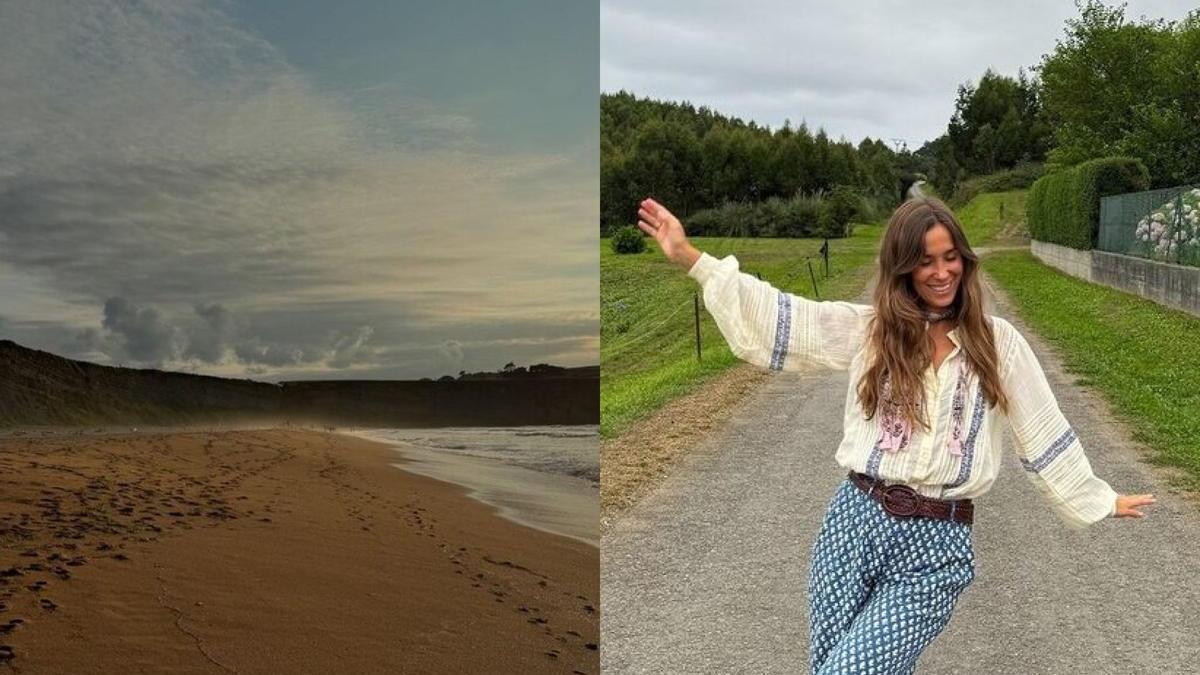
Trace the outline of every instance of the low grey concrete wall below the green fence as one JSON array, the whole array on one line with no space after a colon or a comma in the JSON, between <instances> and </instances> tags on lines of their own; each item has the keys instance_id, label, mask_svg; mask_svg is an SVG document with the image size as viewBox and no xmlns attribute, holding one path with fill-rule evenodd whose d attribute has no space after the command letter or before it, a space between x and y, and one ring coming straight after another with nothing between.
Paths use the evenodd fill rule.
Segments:
<instances>
[{"instance_id":1,"label":"low grey concrete wall below the green fence","mask_svg":"<svg viewBox=\"0 0 1200 675\"><path fill-rule=\"evenodd\" d=\"M1038 259L1072 276L1200 316L1200 268L1031 241Z\"/></svg>"}]
</instances>

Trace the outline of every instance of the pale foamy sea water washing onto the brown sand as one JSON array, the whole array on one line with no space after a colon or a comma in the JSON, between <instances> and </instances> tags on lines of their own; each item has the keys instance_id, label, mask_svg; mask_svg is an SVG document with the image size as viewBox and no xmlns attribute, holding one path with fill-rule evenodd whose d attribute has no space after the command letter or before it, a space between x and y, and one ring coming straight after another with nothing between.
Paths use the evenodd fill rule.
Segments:
<instances>
[{"instance_id":1,"label":"pale foamy sea water washing onto the brown sand","mask_svg":"<svg viewBox=\"0 0 1200 675\"><path fill-rule=\"evenodd\" d=\"M600 426L355 429L395 466L468 488L503 518L600 545Z\"/></svg>"}]
</instances>

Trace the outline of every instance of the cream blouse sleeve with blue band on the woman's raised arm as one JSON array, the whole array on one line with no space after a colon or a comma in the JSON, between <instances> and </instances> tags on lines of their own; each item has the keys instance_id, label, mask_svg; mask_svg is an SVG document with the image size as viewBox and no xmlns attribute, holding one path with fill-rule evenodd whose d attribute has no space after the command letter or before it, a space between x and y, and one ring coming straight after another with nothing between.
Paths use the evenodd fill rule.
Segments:
<instances>
[{"instance_id":1,"label":"cream blouse sleeve with blue band on the woman's raised arm","mask_svg":"<svg viewBox=\"0 0 1200 675\"><path fill-rule=\"evenodd\" d=\"M701 253L688 275L703 287L704 307L733 354L770 370L805 364L848 369L863 344L871 307L818 303L738 271L738 259Z\"/></svg>"}]
</instances>

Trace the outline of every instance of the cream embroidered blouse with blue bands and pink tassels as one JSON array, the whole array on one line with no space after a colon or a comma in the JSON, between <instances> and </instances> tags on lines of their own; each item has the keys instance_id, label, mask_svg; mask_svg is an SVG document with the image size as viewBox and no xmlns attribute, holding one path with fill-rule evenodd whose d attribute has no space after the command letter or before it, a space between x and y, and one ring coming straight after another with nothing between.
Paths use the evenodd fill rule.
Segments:
<instances>
[{"instance_id":1,"label":"cream embroidered blouse with blue bands and pink tassels","mask_svg":"<svg viewBox=\"0 0 1200 675\"><path fill-rule=\"evenodd\" d=\"M857 395L869 366L866 329L874 307L781 292L740 273L733 256L702 253L688 275L703 287L704 306L738 358L770 370L811 364L850 370L839 465L941 500L974 498L991 488L1006 416L988 406L954 330L954 350L936 370L925 371L930 430L914 425L888 437L888 416L865 419ZM1117 494L1092 473L1028 342L1003 318L990 318L1010 402L1007 422L1027 476L1073 527L1112 515Z\"/></svg>"}]
</instances>

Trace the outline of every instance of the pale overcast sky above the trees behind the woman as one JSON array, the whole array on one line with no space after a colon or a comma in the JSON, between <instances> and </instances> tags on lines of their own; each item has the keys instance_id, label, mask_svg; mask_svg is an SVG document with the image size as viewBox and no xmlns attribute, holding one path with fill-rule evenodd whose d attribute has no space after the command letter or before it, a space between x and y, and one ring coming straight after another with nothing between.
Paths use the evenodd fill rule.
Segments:
<instances>
[{"instance_id":1,"label":"pale overcast sky above the trees behind the woman","mask_svg":"<svg viewBox=\"0 0 1200 675\"><path fill-rule=\"evenodd\" d=\"M1130 0L1126 17L1195 7ZM959 84L1037 65L1076 16L1070 0L601 0L600 86L916 149L946 131Z\"/></svg>"}]
</instances>

